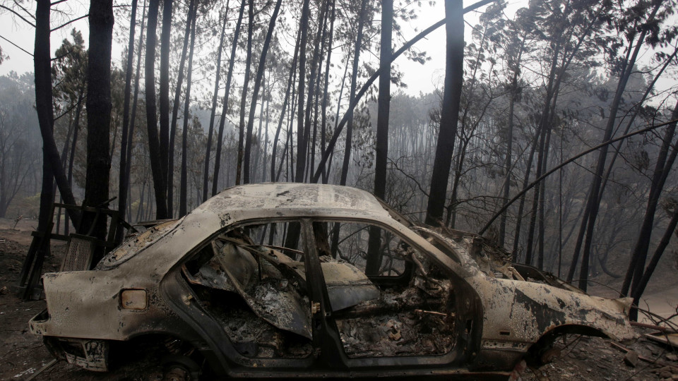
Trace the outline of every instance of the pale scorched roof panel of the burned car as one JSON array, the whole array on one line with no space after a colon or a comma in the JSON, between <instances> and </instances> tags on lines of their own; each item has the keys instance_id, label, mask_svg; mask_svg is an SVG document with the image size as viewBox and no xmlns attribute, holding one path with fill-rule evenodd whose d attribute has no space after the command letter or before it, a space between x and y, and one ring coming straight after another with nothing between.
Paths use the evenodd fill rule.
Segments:
<instances>
[{"instance_id":1,"label":"pale scorched roof panel of the burned car","mask_svg":"<svg viewBox=\"0 0 678 381\"><path fill-rule=\"evenodd\" d=\"M186 222L206 222L210 215L215 215L222 227L244 219L273 217L390 218L379 200L367 191L309 183L257 183L227 188L186 216Z\"/></svg>"}]
</instances>

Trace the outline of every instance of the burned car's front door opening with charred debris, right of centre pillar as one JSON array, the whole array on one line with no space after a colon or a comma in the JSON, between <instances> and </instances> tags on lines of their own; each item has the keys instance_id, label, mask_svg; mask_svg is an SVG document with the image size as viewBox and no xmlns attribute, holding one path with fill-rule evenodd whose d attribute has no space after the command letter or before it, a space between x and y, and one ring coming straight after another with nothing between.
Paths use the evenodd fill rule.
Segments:
<instances>
[{"instance_id":1,"label":"burned car's front door opening with charred debris, right of centre pillar","mask_svg":"<svg viewBox=\"0 0 678 381\"><path fill-rule=\"evenodd\" d=\"M328 228L334 242L326 245ZM453 284L419 250L372 224L314 222L313 230L316 246L331 246L338 262L379 287L378 298L334 314L348 357L442 355L453 349Z\"/></svg>"}]
</instances>

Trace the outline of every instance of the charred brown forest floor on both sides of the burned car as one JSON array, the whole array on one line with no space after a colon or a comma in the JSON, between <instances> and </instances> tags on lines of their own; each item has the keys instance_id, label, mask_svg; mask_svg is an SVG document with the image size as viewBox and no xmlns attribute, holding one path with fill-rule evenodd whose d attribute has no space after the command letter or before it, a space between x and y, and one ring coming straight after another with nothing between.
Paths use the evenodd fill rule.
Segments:
<instances>
[{"instance_id":1,"label":"charred brown forest floor on both sides of the burned car","mask_svg":"<svg viewBox=\"0 0 678 381\"><path fill-rule=\"evenodd\" d=\"M28 380L35 373L39 373L35 380L161 380L160 361L148 349L139 349L139 353L130 356L134 361L117 366L109 373L90 372L65 361L42 370L53 357L40 337L28 332L28 320L40 313L45 303L23 301L11 292L30 246L30 231L37 222L23 219L16 229L13 224L11 219L0 219L0 380ZM45 272L58 269L64 243L52 241L52 253L45 262ZM674 295L678 291L675 284L664 286L667 288L663 292L655 291L655 302L666 305L670 314L670 307L675 308L674 303L678 301L678 295ZM650 306L652 304L650 301ZM650 329L638 328L641 335L648 332ZM523 380L678 380L678 351L642 336L624 346L638 355L635 361L633 354L626 356L624 349L612 341L597 337L570 335L556 347L560 350L559 356L541 368L528 368L523 372ZM624 361L625 356L631 361Z\"/></svg>"}]
</instances>

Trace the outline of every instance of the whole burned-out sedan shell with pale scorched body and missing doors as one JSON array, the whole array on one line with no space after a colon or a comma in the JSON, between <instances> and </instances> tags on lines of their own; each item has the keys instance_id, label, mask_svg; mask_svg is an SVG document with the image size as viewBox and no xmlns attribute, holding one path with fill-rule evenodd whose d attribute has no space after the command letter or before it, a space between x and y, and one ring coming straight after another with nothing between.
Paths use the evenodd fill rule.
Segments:
<instances>
[{"instance_id":1,"label":"whole burned-out sedan shell with pale scorched body and missing doors","mask_svg":"<svg viewBox=\"0 0 678 381\"><path fill-rule=\"evenodd\" d=\"M505 379L562 334L635 336L629 298L588 296L343 186L228 188L95 270L43 282L30 331L99 371L125 343L160 337L184 378Z\"/></svg>"}]
</instances>

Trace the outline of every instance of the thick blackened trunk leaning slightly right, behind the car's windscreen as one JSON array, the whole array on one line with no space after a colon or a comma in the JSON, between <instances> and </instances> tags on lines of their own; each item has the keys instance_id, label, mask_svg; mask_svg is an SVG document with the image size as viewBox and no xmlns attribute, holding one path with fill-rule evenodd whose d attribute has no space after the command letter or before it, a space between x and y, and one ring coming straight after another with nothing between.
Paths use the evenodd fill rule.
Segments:
<instances>
[{"instance_id":1,"label":"thick blackened trunk leaning slightly right, behind the car's windscreen","mask_svg":"<svg viewBox=\"0 0 678 381\"><path fill-rule=\"evenodd\" d=\"M443 217L445 194L457 133L459 103L464 73L464 18L462 1L446 1L446 68L445 90L441 110L440 132L431 177L431 191L426 223L438 226Z\"/></svg>"}]
</instances>

